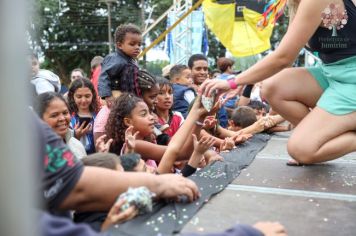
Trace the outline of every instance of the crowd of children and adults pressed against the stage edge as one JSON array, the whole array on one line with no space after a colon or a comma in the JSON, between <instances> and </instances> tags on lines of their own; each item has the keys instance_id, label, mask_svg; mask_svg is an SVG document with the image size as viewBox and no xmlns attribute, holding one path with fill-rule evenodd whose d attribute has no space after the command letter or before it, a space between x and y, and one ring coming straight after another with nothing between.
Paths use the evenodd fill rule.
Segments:
<instances>
[{"instance_id":1,"label":"crowd of children and adults pressed against the stage edge","mask_svg":"<svg viewBox=\"0 0 356 236\"><path fill-rule=\"evenodd\" d=\"M171 66L166 78L155 77L137 64L142 41L138 27L131 24L119 26L115 32L115 40L117 50L114 53L104 59L93 59L92 73L95 76L91 80L85 78L84 72L79 69L72 72L72 81L65 96L58 93L60 88L51 85L46 79L42 83L47 83L47 89L38 86L34 81L38 80L36 76L39 77L41 71L35 68L33 72L31 82L38 94L33 108L74 154L71 157L72 165L75 165L77 159L81 160L84 164L84 171L81 167L83 174L91 170L90 167L95 167L119 174L146 172L144 178L147 179L151 178L147 176L157 175L168 178L164 175L167 173L187 177L198 168L223 160L220 152L232 150L252 135L270 130L284 121L278 115L266 115L268 111L263 100L249 101L247 106L241 106L238 98L226 105L222 97L217 97L213 109L208 112L202 106L199 94L199 86L212 79L209 78L208 60L204 55L191 56L188 65ZM232 65L231 59L219 59L218 66L222 74L216 79L233 76ZM33 67L38 67L36 62ZM250 100L251 88L245 90L248 91L240 96ZM228 108L229 112L225 108ZM63 158L69 160L68 157ZM51 160L47 162L53 164ZM98 176L101 176L101 172L98 173ZM106 172L102 173L104 176ZM107 173L114 175L113 172ZM66 172L62 174L67 178ZM130 179L131 176L127 177ZM70 181L74 181L74 177L70 178ZM78 181L79 177L75 178ZM171 178L172 184L183 181ZM105 179L102 177L98 181ZM129 179L128 186L151 186L145 181L139 183L135 179ZM95 177L92 177L91 181L95 181ZM58 181L51 183L53 186L58 185ZM82 184L86 186L88 182ZM92 184L96 185L94 182ZM110 189L107 184L109 183L105 183L103 191ZM163 190L151 187L150 190L161 197L186 194L190 200L196 199L199 196L196 186L191 182L184 184L186 186L181 190L173 191L167 187ZM74 187L73 190L73 186L71 188L72 192L68 190L70 193L67 191L66 196L78 203L79 200L75 201L73 198L80 198L77 196L79 193L75 197L71 196L75 195L73 191L76 189ZM111 194L118 195L125 187L119 189ZM77 191L82 191L83 194L83 190ZM90 196L98 194L86 191L84 192ZM86 205L75 207L67 198L61 196L61 204L52 207L50 212L74 210L75 222L88 223L96 231L106 230L110 225L129 220L137 214L135 207L121 211L120 207L124 202L113 204L112 197L104 201L113 205L111 210L107 205L98 207L97 204L91 203L93 199L98 200L95 197L90 199L82 196L81 198L86 199ZM283 235L284 230L280 230L280 225L268 225L267 228L275 229L276 226L280 235ZM265 232L263 227L256 228ZM248 235L258 235L256 231L251 232ZM279 234L276 232L276 235Z\"/></svg>"}]
</instances>

